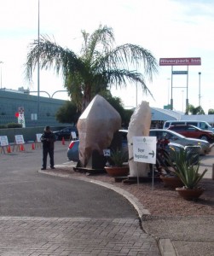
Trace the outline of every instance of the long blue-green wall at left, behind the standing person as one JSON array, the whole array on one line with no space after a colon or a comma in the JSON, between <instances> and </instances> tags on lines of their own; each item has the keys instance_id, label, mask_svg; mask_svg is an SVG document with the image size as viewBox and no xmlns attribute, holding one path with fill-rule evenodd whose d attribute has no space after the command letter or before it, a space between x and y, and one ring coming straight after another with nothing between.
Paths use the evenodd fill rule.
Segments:
<instances>
[{"instance_id":1,"label":"long blue-green wall at left, behind the standing person","mask_svg":"<svg viewBox=\"0 0 214 256\"><path fill-rule=\"evenodd\" d=\"M55 119L55 113L65 101L39 96L32 96L24 91L0 90L0 125L18 123L15 113L24 109L26 127L35 126L59 126L61 124ZM39 113L38 113L39 106Z\"/></svg>"}]
</instances>

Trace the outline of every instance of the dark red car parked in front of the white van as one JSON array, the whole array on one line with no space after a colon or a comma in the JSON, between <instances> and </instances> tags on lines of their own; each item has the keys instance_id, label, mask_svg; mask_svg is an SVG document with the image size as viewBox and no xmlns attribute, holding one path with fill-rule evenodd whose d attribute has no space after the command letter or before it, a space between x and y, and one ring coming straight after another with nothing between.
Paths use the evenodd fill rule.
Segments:
<instances>
[{"instance_id":1,"label":"dark red car parked in front of the white van","mask_svg":"<svg viewBox=\"0 0 214 256\"><path fill-rule=\"evenodd\" d=\"M214 133L212 131L201 130L194 125L171 125L167 130L176 131L185 137L198 138L209 143L214 142Z\"/></svg>"}]
</instances>

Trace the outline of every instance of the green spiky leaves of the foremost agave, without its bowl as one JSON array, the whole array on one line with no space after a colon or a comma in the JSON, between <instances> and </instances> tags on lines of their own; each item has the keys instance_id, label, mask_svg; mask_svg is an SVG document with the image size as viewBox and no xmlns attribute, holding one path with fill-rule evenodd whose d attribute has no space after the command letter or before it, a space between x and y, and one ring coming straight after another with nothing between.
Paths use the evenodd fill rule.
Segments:
<instances>
[{"instance_id":1,"label":"green spiky leaves of the foremost agave, without its bowl","mask_svg":"<svg viewBox=\"0 0 214 256\"><path fill-rule=\"evenodd\" d=\"M184 183L187 189L197 188L198 183L201 178L204 177L207 169L200 173L200 161L196 165L191 164L188 151L185 149L182 149L179 153L175 152L174 154L174 162L167 159L168 164L172 167L171 172L174 172L176 176L182 180L182 183Z\"/></svg>"}]
</instances>

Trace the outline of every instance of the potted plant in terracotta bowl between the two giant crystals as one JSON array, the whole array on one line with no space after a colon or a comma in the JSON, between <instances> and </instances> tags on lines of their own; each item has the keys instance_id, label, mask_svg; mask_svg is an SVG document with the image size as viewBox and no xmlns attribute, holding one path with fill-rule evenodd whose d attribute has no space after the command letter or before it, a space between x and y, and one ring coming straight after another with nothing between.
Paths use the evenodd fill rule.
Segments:
<instances>
[{"instance_id":1,"label":"potted plant in terracotta bowl between the two giant crystals","mask_svg":"<svg viewBox=\"0 0 214 256\"><path fill-rule=\"evenodd\" d=\"M127 152L123 152L119 148L112 150L111 155L107 160L107 165L105 166L107 174L113 177L127 176L130 172L128 164L125 164L127 159Z\"/></svg>"}]
</instances>

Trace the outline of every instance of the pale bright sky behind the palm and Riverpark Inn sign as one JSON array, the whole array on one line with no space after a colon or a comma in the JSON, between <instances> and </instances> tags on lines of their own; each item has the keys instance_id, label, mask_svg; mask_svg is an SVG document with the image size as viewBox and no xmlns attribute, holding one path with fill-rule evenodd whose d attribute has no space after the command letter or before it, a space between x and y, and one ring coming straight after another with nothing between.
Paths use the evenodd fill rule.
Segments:
<instances>
[{"instance_id":1,"label":"pale bright sky behind the palm and Riverpark Inn sign","mask_svg":"<svg viewBox=\"0 0 214 256\"><path fill-rule=\"evenodd\" d=\"M29 44L38 38L38 1L40 34L75 53L81 49L80 32L94 32L101 24L113 28L117 45L141 45L158 63L160 58L200 57L200 66L188 66L188 76L173 75L173 107L185 111L188 97L189 104L200 105L205 113L214 108L213 0L0 0L2 89L38 91L38 71L29 83L24 66ZM119 96L125 108L142 101L164 108L171 102L171 66L158 70L152 82L146 78L153 97L145 95L139 84L113 89L113 96ZM187 66L174 66L173 70L186 71ZM143 73L143 68L138 72ZM66 89L53 69L40 71L39 88L40 96L68 99L66 91L58 91Z\"/></svg>"}]
</instances>

